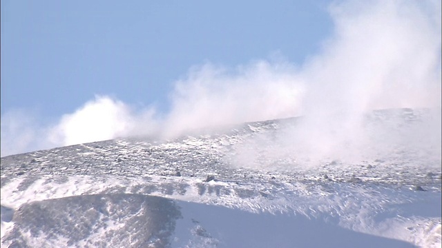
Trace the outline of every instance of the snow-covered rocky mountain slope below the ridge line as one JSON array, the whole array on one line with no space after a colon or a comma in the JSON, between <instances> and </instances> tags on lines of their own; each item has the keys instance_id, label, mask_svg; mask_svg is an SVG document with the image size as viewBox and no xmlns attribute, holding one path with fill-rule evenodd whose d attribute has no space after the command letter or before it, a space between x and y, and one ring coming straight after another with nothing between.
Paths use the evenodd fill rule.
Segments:
<instances>
[{"instance_id":1,"label":"snow-covered rocky mountain slope below the ridge line","mask_svg":"<svg viewBox=\"0 0 442 248\"><path fill-rule=\"evenodd\" d=\"M1 247L441 247L440 109L375 111L332 152L299 123L3 157Z\"/></svg>"}]
</instances>

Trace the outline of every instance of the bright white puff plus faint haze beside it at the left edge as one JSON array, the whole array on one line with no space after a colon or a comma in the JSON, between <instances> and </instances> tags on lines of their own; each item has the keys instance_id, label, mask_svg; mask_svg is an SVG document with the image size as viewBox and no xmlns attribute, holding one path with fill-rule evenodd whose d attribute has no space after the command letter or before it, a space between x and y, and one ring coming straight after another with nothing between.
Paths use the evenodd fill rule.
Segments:
<instances>
[{"instance_id":1,"label":"bright white puff plus faint haze beside it at the left edge","mask_svg":"<svg viewBox=\"0 0 442 248\"><path fill-rule=\"evenodd\" d=\"M1 116L1 156L75 145L132 135L149 135L157 130L155 111L149 107L135 112L122 101L95 96L72 114L53 125L38 123L37 114L24 110Z\"/></svg>"}]
</instances>

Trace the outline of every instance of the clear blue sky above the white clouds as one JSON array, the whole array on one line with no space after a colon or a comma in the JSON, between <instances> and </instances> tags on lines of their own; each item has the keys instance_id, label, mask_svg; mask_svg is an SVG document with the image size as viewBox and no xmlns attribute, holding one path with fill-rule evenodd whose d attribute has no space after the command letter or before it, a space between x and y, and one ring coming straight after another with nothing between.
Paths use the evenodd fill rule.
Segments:
<instances>
[{"instance_id":1,"label":"clear blue sky above the white clouds","mask_svg":"<svg viewBox=\"0 0 442 248\"><path fill-rule=\"evenodd\" d=\"M1 1L1 114L59 116L95 94L166 110L192 65L300 63L331 28L327 1Z\"/></svg>"}]
</instances>

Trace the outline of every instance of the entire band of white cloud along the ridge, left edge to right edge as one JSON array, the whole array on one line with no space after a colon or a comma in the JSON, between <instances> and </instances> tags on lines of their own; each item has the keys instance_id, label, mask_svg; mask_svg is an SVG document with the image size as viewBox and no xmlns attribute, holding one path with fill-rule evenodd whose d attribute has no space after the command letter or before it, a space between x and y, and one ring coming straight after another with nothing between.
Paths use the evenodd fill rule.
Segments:
<instances>
[{"instance_id":1,"label":"entire band of white cloud along the ridge, left edge to right edge","mask_svg":"<svg viewBox=\"0 0 442 248\"><path fill-rule=\"evenodd\" d=\"M1 116L1 156L299 115L306 116L296 133L304 145L328 149L363 138L359 127L369 110L441 107L440 1L343 1L329 12L332 37L302 65L276 59L195 66L175 82L169 113L137 110L109 96L95 96L46 127L32 124L27 112L8 112Z\"/></svg>"}]
</instances>

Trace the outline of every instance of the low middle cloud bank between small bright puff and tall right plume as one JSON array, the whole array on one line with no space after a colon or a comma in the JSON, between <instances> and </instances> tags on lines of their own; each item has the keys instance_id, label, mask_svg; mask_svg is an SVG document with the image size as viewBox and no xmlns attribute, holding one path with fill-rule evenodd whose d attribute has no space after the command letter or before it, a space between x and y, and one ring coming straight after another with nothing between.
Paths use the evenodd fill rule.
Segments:
<instances>
[{"instance_id":1,"label":"low middle cloud bank between small bright puff and tall right plume","mask_svg":"<svg viewBox=\"0 0 442 248\"><path fill-rule=\"evenodd\" d=\"M166 135L200 127L299 114L303 85L287 63L256 61L235 70L193 68L171 94Z\"/></svg>"}]
</instances>

